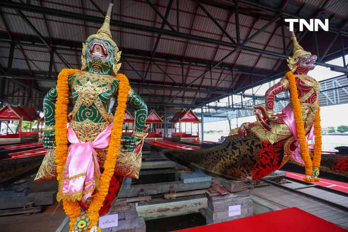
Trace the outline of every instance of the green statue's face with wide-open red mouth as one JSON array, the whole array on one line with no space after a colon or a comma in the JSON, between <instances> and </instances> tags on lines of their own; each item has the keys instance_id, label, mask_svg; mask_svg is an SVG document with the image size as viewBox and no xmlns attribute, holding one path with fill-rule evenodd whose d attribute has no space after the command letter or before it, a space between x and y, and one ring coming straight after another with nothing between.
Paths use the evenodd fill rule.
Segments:
<instances>
[{"instance_id":1,"label":"green statue's face with wide-open red mouth","mask_svg":"<svg viewBox=\"0 0 348 232\"><path fill-rule=\"evenodd\" d=\"M107 40L92 38L86 41L86 63L93 73L110 74L117 46Z\"/></svg>"}]
</instances>

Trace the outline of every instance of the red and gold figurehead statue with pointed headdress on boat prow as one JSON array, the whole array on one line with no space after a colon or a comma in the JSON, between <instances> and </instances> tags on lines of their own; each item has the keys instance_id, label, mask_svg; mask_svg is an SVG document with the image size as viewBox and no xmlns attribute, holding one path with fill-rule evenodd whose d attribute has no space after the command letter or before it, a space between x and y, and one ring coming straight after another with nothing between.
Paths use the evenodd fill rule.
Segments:
<instances>
[{"instance_id":1,"label":"red and gold figurehead statue with pointed headdress on boat prow","mask_svg":"<svg viewBox=\"0 0 348 232\"><path fill-rule=\"evenodd\" d=\"M317 56L305 51L299 45L293 32L291 32L291 39L293 41L293 55L287 59L287 62L296 79L305 132L309 135L318 108L317 99L320 85L317 80L307 74L315 68ZM257 122L243 124L239 128L239 134L246 136L253 133L261 141L271 144L293 135L291 132L292 125L290 123L293 117L291 105L287 105L282 110L282 113L274 114L273 112L275 95L287 90L289 90L289 81L287 78L281 78L278 83L270 87L265 93L265 106L254 106ZM302 160L298 159L296 161Z\"/></svg>"}]
</instances>

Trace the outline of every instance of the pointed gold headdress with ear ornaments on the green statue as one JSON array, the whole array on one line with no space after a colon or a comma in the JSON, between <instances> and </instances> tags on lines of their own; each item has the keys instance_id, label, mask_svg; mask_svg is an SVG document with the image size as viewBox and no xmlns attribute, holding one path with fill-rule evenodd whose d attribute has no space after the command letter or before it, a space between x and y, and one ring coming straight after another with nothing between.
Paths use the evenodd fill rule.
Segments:
<instances>
[{"instance_id":1,"label":"pointed gold headdress with ear ornaments on the green statue","mask_svg":"<svg viewBox=\"0 0 348 232\"><path fill-rule=\"evenodd\" d=\"M90 36L88 36L86 42L82 43L82 70L84 70L87 67L86 64L86 47L87 47L87 42L90 41L91 39L101 39L101 40L106 40L108 41L112 46L115 47L114 49L114 57L115 57L115 62L112 67L112 71L114 74L117 74L117 71L121 68L121 63L118 63L120 58L121 58L121 51L118 50L117 44L112 40L111 32L110 32L110 19L111 19L111 11L112 11L112 3L109 3L109 6L107 8L107 12L105 15L104 23L100 27L100 29L95 33Z\"/></svg>"}]
</instances>

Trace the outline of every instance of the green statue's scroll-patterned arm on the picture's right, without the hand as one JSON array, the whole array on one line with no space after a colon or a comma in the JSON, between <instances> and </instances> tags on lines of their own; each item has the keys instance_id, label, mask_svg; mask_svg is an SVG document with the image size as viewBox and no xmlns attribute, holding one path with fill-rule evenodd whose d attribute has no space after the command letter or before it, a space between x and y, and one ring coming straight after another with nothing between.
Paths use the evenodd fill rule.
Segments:
<instances>
[{"instance_id":1,"label":"green statue's scroll-patterned arm on the picture's right, without the hand","mask_svg":"<svg viewBox=\"0 0 348 232\"><path fill-rule=\"evenodd\" d=\"M135 109L135 126L133 134L135 137L138 137L137 135L142 137L145 127L145 121L148 116L148 107L143 98L141 98L139 94L134 92L133 89L129 90L128 101L129 105Z\"/></svg>"}]
</instances>

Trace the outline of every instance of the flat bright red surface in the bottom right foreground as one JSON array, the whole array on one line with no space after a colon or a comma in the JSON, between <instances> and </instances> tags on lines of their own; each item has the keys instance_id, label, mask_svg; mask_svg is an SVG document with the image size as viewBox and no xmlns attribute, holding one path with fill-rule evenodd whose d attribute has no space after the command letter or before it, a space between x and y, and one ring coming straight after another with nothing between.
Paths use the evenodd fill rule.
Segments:
<instances>
[{"instance_id":1,"label":"flat bright red surface in the bottom right foreground","mask_svg":"<svg viewBox=\"0 0 348 232\"><path fill-rule=\"evenodd\" d=\"M298 208L288 208L180 232L347 232ZM178 231L177 231L178 232Z\"/></svg>"}]
</instances>

